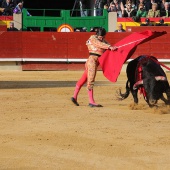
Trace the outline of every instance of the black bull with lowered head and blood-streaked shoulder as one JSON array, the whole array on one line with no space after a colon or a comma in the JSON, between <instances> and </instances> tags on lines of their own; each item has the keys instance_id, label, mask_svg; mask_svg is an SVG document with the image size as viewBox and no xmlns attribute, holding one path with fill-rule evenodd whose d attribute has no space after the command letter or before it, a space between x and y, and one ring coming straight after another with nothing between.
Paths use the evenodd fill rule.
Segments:
<instances>
[{"instance_id":1,"label":"black bull with lowered head and blood-streaked shoulder","mask_svg":"<svg viewBox=\"0 0 170 170\"><path fill-rule=\"evenodd\" d=\"M138 103L138 90L143 94L145 101L150 107L154 106L159 99L165 104L170 104L170 87L167 76L157 59L153 56L139 56L130 61L126 69L127 82L124 94L119 90L121 100L127 98L131 92L134 103ZM167 99L163 93L166 93Z\"/></svg>"}]
</instances>

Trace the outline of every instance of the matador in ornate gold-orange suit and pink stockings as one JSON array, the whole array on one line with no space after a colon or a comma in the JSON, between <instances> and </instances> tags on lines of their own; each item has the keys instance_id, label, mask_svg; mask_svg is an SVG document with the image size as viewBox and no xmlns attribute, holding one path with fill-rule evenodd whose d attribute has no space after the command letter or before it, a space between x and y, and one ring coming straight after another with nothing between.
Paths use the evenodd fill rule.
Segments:
<instances>
[{"instance_id":1,"label":"matador in ornate gold-orange suit and pink stockings","mask_svg":"<svg viewBox=\"0 0 170 170\"><path fill-rule=\"evenodd\" d=\"M106 30L104 28L99 28L96 32L96 35L91 35L87 40L86 45L89 51L89 58L85 63L85 71L80 78L80 80L76 83L74 95L71 98L71 101L79 106L77 102L77 96L81 89L81 87L87 82L87 90L89 96L89 106L90 107L102 107L100 104L96 104L93 98L93 86L95 82L97 67L99 65L98 58L105 52L105 50L115 50L116 47L111 46L105 40Z\"/></svg>"}]
</instances>

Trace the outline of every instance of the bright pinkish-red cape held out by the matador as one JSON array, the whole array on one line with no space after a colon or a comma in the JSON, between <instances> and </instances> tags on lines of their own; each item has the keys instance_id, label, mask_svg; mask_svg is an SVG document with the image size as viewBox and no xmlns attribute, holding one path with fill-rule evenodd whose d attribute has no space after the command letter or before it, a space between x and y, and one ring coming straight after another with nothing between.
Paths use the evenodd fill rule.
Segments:
<instances>
[{"instance_id":1,"label":"bright pinkish-red cape held out by the matador","mask_svg":"<svg viewBox=\"0 0 170 170\"><path fill-rule=\"evenodd\" d=\"M130 54L132 49L135 49L134 47L147 38L153 36L156 37L157 35L158 32L152 32L150 30L135 32L114 44L114 46L118 47L117 50L106 50L104 54L99 57L99 63L103 70L104 76L109 81L116 82L124 62L126 62L126 60L128 60L132 55Z\"/></svg>"}]
</instances>

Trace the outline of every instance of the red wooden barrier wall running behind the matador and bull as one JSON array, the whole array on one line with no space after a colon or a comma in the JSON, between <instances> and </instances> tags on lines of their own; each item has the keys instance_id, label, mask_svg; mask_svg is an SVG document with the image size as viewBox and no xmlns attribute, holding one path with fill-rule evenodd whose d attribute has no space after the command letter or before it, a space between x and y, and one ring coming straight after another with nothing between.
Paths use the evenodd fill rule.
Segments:
<instances>
[{"instance_id":1,"label":"red wooden barrier wall running behind the matador and bull","mask_svg":"<svg viewBox=\"0 0 170 170\"><path fill-rule=\"evenodd\" d=\"M149 29L149 28L147 28ZM146 30L146 27L145 27ZM164 28L157 27L157 31ZM58 33L58 32L0 32L2 59L21 59L23 70L78 70L84 69L88 58L86 40L93 33ZM108 33L106 39L115 44L131 34ZM140 44L132 58L139 55L154 55L158 59L170 59L170 33ZM43 59L46 59L43 61ZM64 61L59 61L64 59ZM74 62L70 60L74 59ZM77 62L77 59L84 59Z\"/></svg>"}]
</instances>

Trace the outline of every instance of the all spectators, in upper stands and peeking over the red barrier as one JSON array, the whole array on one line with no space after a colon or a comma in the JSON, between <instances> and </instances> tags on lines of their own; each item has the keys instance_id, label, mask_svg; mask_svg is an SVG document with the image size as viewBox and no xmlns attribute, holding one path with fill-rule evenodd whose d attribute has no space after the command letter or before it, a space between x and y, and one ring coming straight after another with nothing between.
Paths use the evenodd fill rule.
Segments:
<instances>
[{"instance_id":1,"label":"all spectators, in upper stands and peeking over the red barrier","mask_svg":"<svg viewBox=\"0 0 170 170\"><path fill-rule=\"evenodd\" d=\"M88 16L86 8L86 0L80 0L81 16ZM108 12L116 12L118 18L131 17L134 21L140 21L140 18L146 18L145 23L141 26L153 26L149 18L161 17L156 26L168 26L164 23L164 18L170 17L170 0L96 0L95 8L97 9L97 16L102 15L103 9ZM13 14L20 14L23 10L23 0L0 0L0 15L13 16ZM27 15L31 14L27 11ZM96 28L92 28L91 32ZM8 31L17 31L14 24L10 23ZM86 27L75 28L75 32L86 32ZM122 24L118 25L115 32L125 32Z\"/></svg>"}]
</instances>

